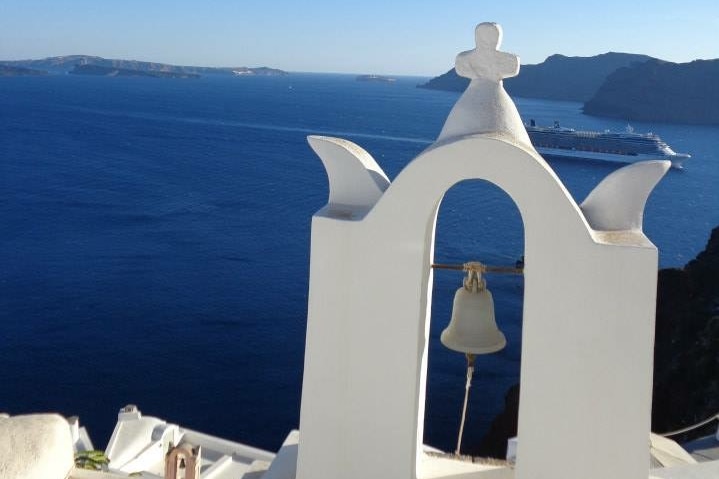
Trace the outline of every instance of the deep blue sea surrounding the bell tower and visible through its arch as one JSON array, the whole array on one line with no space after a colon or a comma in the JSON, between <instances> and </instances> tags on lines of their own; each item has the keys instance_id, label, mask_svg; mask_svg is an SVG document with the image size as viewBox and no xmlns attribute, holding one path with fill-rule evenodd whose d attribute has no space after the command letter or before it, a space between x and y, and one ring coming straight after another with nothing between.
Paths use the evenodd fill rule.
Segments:
<instances>
[{"instance_id":1,"label":"deep blue sea surrounding the bell tower and visible through its arch","mask_svg":"<svg viewBox=\"0 0 719 479\"><path fill-rule=\"evenodd\" d=\"M298 426L310 220L328 196L305 138L355 141L395 178L458 98L416 88L425 80L0 79L0 411L78 415L104 447L117 410L134 403L276 450ZM578 103L516 101L540 125L627 123L585 116ZM692 155L657 186L644 217L661 266L681 267L719 224L719 128L632 126ZM578 202L620 166L550 164ZM449 191L437 262L513 265L522 254L506 194L482 181ZM435 274L425 440L446 450L465 362L439 334L460 281ZM488 283L508 346L478 359L467 447L519 374L522 279Z\"/></svg>"}]
</instances>

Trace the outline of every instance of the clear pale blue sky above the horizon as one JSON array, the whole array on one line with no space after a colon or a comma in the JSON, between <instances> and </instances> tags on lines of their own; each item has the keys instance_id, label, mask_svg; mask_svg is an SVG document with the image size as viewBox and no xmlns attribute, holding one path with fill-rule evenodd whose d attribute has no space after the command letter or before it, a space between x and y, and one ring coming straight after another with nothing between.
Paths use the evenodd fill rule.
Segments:
<instances>
[{"instance_id":1,"label":"clear pale blue sky above the horizon","mask_svg":"<svg viewBox=\"0 0 719 479\"><path fill-rule=\"evenodd\" d=\"M0 0L0 60L88 54L182 65L436 75L504 28L522 63L553 53L719 58L717 0Z\"/></svg>"}]
</instances>

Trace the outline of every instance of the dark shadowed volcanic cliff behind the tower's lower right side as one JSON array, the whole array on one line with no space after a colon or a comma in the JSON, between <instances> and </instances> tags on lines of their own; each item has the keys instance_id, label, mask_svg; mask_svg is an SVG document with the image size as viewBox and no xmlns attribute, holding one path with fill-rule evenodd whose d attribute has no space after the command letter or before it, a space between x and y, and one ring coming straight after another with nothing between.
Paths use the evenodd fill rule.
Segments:
<instances>
[{"instance_id":1,"label":"dark shadowed volcanic cliff behind the tower's lower right side","mask_svg":"<svg viewBox=\"0 0 719 479\"><path fill-rule=\"evenodd\" d=\"M507 439L517 435L519 384L505 396L505 408L495 417L479 444L467 454L500 457ZM659 271L652 431L664 433L695 424L719 412L719 226L704 251L684 268ZM713 429L712 429L713 428ZM680 441L716 430L716 423Z\"/></svg>"}]
</instances>

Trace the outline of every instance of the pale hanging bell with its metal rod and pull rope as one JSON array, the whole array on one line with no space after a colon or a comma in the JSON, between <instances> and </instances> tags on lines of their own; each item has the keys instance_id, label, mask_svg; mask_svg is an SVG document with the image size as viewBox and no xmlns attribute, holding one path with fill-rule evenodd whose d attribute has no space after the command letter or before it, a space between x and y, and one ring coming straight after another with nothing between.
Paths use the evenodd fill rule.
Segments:
<instances>
[{"instance_id":1,"label":"pale hanging bell with its metal rod and pull rope","mask_svg":"<svg viewBox=\"0 0 719 479\"><path fill-rule=\"evenodd\" d=\"M467 381L465 383L464 403L457 437L455 455L459 456L464 434L464 422L467 414L469 389L474 375L475 359L480 354L490 354L502 350L507 340L497 327L494 318L494 300L492 293L482 278L483 272L517 273L519 268L490 267L478 262L464 263L461 268L455 265L432 265L433 268L464 270L467 272L462 287L457 289L452 306L452 318L442 331L442 344L467 358ZM517 271L519 270L519 271Z\"/></svg>"}]
</instances>

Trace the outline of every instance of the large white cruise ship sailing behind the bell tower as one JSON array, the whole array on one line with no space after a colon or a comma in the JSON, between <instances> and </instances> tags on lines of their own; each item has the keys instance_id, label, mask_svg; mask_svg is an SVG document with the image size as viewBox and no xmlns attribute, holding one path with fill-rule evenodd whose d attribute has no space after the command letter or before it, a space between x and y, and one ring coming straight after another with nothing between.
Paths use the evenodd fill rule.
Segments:
<instances>
[{"instance_id":1,"label":"large white cruise ship sailing behind the bell tower","mask_svg":"<svg viewBox=\"0 0 719 479\"><path fill-rule=\"evenodd\" d=\"M582 131L565 128L558 121L554 126L537 126L534 120L524 125L532 145L542 156L553 158L580 158L634 163L644 160L670 160L674 168L690 158L676 153L654 133L635 133L631 126L626 131Z\"/></svg>"}]
</instances>

